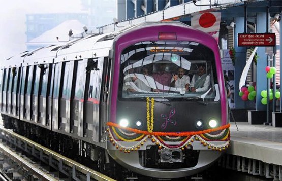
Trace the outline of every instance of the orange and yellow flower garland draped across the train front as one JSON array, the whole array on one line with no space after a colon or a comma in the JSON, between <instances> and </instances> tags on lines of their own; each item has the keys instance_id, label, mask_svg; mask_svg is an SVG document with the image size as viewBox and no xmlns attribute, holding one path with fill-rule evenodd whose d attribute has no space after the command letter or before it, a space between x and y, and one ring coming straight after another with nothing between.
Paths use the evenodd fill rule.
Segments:
<instances>
[{"instance_id":1,"label":"orange and yellow flower garland draped across the train front","mask_svg":"<svg viewBox=\"0 0 282 181\"><path fill-rule=\"evenodd\" d=\"M150 104L151 102L151 108ZM200 141L203 146L208 146L208 149L222 151L228 148L230 144L230 124L220 126L214 129L207 129L203 131L195 132L153 132L153 110L154 110L154 98L151 100L147 97L146 113L147 113L147 130L142 131L133 128L124 128L120 125L112 122L108 122L108 134L110 142L116 146L116 149L124 151L124 153L130 153L130 151L138 150L143 146L144 142L148 138L151 139L159 149L162 148L190 148L194 139ZM126 147L120 144L120 141L137 141L134 146ZM170 145L166 144L165 141L169 142L181 142L180 144ZM216 145L211 141L226 141L224 144Z\"/></svg>"}]
</instances>

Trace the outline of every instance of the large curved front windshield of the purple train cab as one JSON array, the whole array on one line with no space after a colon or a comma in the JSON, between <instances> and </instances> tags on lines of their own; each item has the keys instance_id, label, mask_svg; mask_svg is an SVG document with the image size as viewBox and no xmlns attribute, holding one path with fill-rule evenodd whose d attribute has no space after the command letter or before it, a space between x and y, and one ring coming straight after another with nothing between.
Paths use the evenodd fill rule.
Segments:
<instances>
[{"instance_id":1,"label":"large curved front windshield of the purple train cab","mask_svg":"<svg viewBox=\"0 0 282 181\"><path fill-rule=\"evenodd\" d=\"M121 99L218 101L214 54L189 41L136 43L121 54Z\"/></svg>"}]
</instances>

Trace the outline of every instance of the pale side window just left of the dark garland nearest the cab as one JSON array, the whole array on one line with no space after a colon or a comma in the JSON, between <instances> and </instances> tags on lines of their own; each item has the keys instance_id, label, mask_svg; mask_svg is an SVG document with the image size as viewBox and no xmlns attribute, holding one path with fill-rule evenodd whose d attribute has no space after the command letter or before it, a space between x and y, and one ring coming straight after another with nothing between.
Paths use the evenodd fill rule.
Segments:
<instances>
[{"instance_id":1,"label":"pale side window just left of the dark garland nearest the cab","mask_svg":"<svg viewBox=\"0 0 282 181\"><path fill-rule=\"evenodd\" d=\"M85 87L85 75L87 59L78 61L77 63L77 73L76 73L76 82L75 82L75 98L83 99L84 98L84 87Z\"/></svg>"}]
</instances>

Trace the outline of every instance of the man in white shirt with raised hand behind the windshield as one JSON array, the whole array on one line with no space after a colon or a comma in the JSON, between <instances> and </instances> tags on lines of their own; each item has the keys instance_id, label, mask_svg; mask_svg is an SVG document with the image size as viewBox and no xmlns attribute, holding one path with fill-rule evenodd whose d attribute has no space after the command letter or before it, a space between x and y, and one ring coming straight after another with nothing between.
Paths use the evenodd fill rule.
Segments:
<instances>
[{"instance_id":1,"label":"man in white shirt with raised hand behind the windshield","mask_svg":"<svg viewBox=\"0 0 282 181\"><path fill-rule=\"evenodd\" d=\"M190 86L190 77L185 75L185 69L182 67L178 67L178 74L174 74L171 78L171 87L175 88L185 88L186 91L189 90Z\"/></svg>"}]
</instances>

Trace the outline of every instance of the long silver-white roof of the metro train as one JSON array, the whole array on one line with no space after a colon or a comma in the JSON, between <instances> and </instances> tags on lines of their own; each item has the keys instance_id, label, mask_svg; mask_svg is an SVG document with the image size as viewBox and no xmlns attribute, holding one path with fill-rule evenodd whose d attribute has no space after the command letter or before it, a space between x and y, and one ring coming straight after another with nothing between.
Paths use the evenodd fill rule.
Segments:
<instances>
[{"instance_id":1,"label":"long silver-white roof of the metro train","mask_svg":"<svg viewBox=\"0 0 282 181\"><path fill-rule=\"evenodd\" d=\"M174 25L193 29L191 26L182 22L144 22L120 28L117 31L110 33L92 34L68 42L58 42L57 45L42 47L33 51L26 51L7 59L5 63L0 65L0 68L106 57L109 55L109 51L115 41L114 38L118 35L123 32L130 32L133 29L159 25Z\"/></svg>"}]
</instances>

